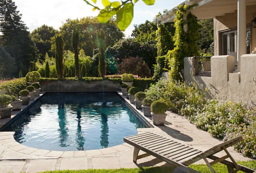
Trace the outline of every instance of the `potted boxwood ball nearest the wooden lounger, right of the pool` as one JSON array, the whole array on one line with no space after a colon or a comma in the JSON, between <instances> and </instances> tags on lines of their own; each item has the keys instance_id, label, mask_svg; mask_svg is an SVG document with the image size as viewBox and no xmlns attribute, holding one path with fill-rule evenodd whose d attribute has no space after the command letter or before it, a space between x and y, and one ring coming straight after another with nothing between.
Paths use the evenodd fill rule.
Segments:
<instances>
[{"instance_id":1,"label":"potted boxwood ball nearest the wooden lounger, right of the pool","mask_svg":"<svg viewBox=\"0 0 256 173\"><path fill-rule=\"evenodd\" d=\"M167 109L167 104L161 100L154 101L151 104L151 116L154 125L164 125Z\"/></svg>"}]
</instances>

